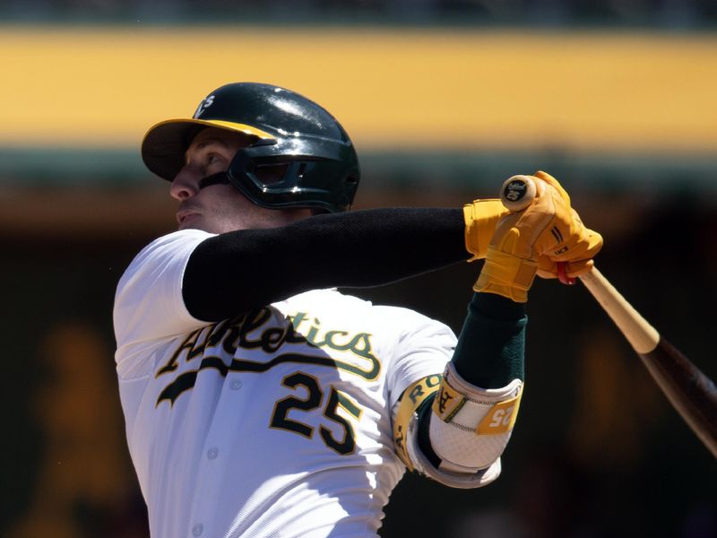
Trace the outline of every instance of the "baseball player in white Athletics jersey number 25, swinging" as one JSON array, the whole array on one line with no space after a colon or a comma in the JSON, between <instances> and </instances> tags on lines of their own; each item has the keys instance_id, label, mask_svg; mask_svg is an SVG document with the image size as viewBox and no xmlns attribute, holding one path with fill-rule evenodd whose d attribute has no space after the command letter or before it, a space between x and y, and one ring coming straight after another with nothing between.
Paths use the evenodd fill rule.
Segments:
<instances>
[{"instance_id":1,"label":"baseball player in white Athletics jersey number 25, swinging","mask_svg":"<svg viewBox=\"0 0 717 538\"><path fill-rule=\"evenodd\" d=\"M406 469L495 480L536 273L601 246L554 178L536 202L349 212L356 152L324 108L233 83L152 126L176 232L117 286L117 375L155 538L376 536ZM465 325L336 290L485 259Z\"/></svg>"}]
</instances>

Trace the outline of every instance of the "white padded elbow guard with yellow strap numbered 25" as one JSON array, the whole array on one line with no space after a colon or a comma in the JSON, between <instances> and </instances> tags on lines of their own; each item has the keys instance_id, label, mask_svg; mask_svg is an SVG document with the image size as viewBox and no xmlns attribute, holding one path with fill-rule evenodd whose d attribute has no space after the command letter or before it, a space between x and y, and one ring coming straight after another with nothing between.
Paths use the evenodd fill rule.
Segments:
<instances>
[{"instance_id":1,"label":"white padded elbow guard with yellow strap numbered 25","mask_svg":"<svg viewBox=\"0 0 717 538\"><path fill-rule=\"evenodd\" d=\"M441 466L475 473L493 464L513 432L521 395L520 379L503 388L482 389L463 380L448 363L429 428Z\"/></svg>"}]
</instances>

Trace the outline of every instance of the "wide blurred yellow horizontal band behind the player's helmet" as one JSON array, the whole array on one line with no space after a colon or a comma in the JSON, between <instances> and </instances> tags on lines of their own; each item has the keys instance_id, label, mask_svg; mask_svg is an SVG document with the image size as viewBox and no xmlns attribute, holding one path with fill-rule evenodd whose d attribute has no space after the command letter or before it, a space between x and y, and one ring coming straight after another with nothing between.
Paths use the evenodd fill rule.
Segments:
<instances>
[{"instance_id":1,"label":"wide blurred yellow horizontal band behind the player's helmet","mask_svg":"<svg viewBox=\"0 0 717 538\"><path fill-rule=\"evenodd\" d=\"M134 147L209 89L272 82L359 148L717 150L717 37L609 30L5 28L0 144Z\"/></svg>"}]
</instances>

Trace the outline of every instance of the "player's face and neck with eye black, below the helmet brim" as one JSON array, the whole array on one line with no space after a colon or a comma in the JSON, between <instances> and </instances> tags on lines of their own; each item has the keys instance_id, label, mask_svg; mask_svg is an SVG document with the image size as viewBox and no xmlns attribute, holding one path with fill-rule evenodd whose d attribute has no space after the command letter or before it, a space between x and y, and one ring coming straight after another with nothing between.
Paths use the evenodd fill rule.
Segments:
<instances>
[{"instance_id":1,"label":"player's face and neck with eye black, below the helmet brim","mask_svg":"<svg viewBox=\"0 0 717 538\"><path fill-rule=\"evenodd\" d=\"M216 184L200 188L200 180L229 169L239 148L246 147L245 134L209 127L194 137L186 150L186 165L169 189L179 201L179 230L188 228L224 233L232 230L275 228L311 215L309 209L266 209L254 204L236 187Z\"/></svg>"}]
</instances>

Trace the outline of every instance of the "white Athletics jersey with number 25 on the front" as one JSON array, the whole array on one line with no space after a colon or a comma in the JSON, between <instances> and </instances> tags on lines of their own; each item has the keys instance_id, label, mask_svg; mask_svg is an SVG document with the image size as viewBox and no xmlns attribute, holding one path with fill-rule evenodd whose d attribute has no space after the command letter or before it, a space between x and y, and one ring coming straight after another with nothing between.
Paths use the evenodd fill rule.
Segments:
<instances>
[{"instance_id":1,"label":"white Athletics jersey with number 25 on the front","mask_svg":"<svg viewBox=\"0 0 717 538\"><path fill-rule=\"evenodd\" d=\"M117 287L119 390L152 537L376 536L405 469L391 410L443 372L453 332L332 290L200 321L182 277L209 237L155 240Z\"/></svg>"}]
</instances>

